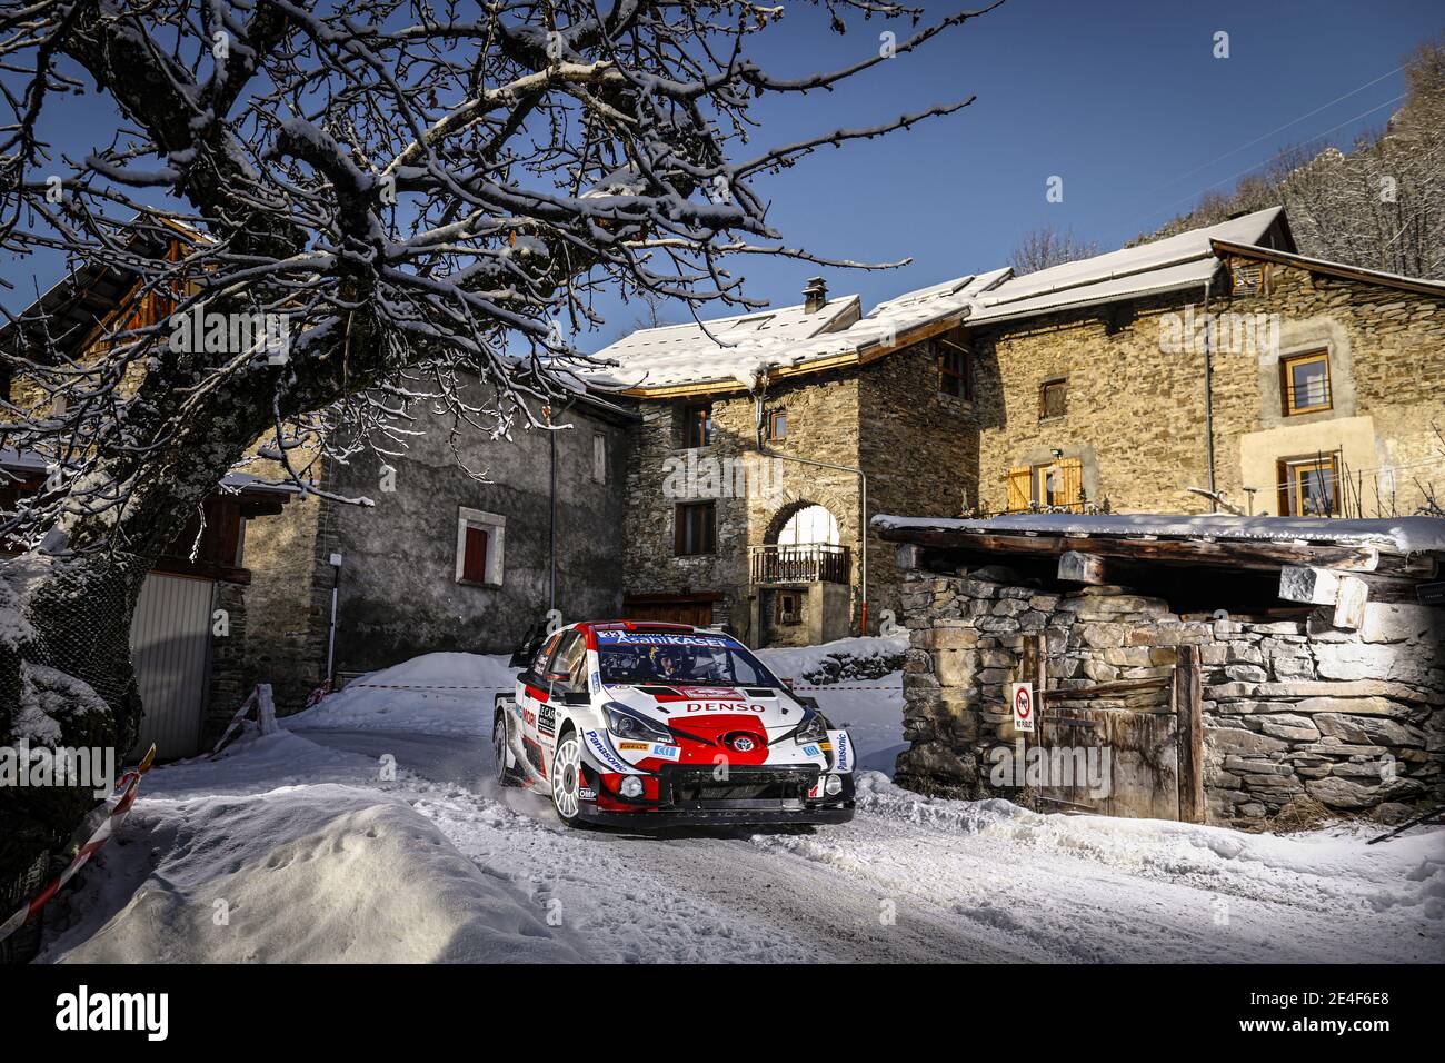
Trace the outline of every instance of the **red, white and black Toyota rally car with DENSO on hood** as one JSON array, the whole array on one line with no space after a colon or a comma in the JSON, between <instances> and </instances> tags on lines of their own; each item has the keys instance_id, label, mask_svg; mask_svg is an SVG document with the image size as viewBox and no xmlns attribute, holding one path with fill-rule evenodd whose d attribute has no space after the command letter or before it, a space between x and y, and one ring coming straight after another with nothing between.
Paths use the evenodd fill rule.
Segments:
<instances>
[{"instance_id":1,"label":"red, white and black Toyota rally car with DENSO on hood","mask_svg":"<svg viewBox=\"0 0 1445 1063\"><path fill-rule=\"evenodd\" d=\"M569 826L847 823L853 740L743 644L682 623L574 623L513 657L493 752L503 785Z\"/></svg>"}]
</instances>

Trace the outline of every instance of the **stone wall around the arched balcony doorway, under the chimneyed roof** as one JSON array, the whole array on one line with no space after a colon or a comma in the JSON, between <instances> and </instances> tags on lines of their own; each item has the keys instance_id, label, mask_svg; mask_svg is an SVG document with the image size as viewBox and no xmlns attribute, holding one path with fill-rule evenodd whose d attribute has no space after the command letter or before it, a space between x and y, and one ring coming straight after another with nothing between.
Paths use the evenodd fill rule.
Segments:
<instances>
[{"instance_id":1,"label":"stone wall around the arched balcony doorway, under the chimneyed roof","mask_svg":"<svg viewBox=\"0 0 1445 1063\"><path fill-rule=\"evenodd\" d=\"M702 396L704 399L708 396ZM714 437L709 447L682 448L679 411L688 399L643 402L642 424L627 479L627 590L637 594L721 592L714 619L753 639L747 551L776 539L783 522L808 505L827 508L853 550L851 622L861 605L857 474L779 460L749 480L746 498L715 499L718 550L676 557L673 521L678 502L668 490L669 469L685 461L738 461L756 456L756 401L746 392L711 396ZM863 367L792 377L769 388L764 411L788 412L788 435L766 443L780 456L861 467L868 477L868 509L955 516L977 499L978 447L968 402L938 389L932 341L915 344ZM698 496L702 498L702 496ZM899 610L893 551L877 534L868 538L870 628L884 610Z\"/></svg>"}]
</instances>

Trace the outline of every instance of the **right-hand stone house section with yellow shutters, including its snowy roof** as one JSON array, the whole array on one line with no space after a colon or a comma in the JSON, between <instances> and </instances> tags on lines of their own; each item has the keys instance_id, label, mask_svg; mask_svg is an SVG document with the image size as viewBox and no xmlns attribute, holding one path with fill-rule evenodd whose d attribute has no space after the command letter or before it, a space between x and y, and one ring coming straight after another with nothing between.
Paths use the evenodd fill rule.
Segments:
<instances>
[{"instance_id":1,"label":"right-hand stone house section with yellow shutters, including its snowy roof","mask_svg":"<svg viewBox=\"0 0 1445 1063\"><path fill-rule=\"evenodd\" d=\"M1279 208L1013 278L965 331L983 512L1394 516L1445 484L1445 283L1295 255Z\"/></svg>"}]
</instances>

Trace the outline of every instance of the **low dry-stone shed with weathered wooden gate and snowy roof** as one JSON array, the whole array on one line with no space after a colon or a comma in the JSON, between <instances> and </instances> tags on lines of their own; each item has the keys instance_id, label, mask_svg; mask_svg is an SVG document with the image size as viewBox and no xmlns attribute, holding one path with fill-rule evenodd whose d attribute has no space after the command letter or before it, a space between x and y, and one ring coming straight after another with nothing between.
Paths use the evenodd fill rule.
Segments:
<instances>
[{"instance_id":1,"label":"low dry-stone shed with weathered wooden gate and snowy roof","mask_svg":"<svg viewBox=\"0 0 1445 1063\"><path fill-rule=\"evenodd\" d=\"M1445 797L1442 519L874 526L910 631L902 785L1233 826Z\"/></svg>"}]
</instances>

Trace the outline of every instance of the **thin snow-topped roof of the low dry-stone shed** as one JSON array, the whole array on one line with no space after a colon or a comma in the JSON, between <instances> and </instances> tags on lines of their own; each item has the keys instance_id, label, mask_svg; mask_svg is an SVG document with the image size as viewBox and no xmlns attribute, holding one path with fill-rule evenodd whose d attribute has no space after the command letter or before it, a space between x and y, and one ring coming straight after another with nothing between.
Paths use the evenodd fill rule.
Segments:
<instances>
[{"instance_id":1,"label":"thin snow-topped roof of the low dry-stone shed","mask_svg":"<svg viewBox=\"0 0 1445 1063\"><path fill-rule=\"evenodd\" d=\"M1178 538L1218 542L1316 542L1381 547L1402 554L1445 552L1445 518L1400 516L1345 521L1318 516L1234 516L1231 513L1009 513L991 518L873 518L879 531L942 531L962 535L1077 535Z\"/></svg>"}]
</instances>

